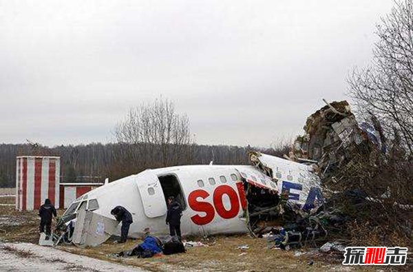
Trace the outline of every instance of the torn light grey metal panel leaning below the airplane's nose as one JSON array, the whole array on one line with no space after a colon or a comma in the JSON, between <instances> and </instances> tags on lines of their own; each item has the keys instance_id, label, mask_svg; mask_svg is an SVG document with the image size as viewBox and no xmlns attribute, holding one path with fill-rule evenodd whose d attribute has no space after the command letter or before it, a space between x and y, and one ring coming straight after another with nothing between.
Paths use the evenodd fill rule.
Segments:
<instances>
[{"instance_id":1,"label":"torn light grey metal panel leaning below the airplane's nose","mask_svg":"<svg viewBox=\"0 0 413 272\"><path fill-rule=\"evenodd\" d=\"M81 247L96 247L115 233L118 224L112 218L82 209L76 217L73 242Z\"/></svg>"}]
</instances>

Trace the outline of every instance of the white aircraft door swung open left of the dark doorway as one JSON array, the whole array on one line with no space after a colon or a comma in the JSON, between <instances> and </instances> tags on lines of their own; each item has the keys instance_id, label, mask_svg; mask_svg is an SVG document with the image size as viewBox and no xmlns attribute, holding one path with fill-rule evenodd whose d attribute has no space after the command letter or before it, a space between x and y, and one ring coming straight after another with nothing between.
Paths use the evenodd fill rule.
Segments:
<instances>
[{"instance_id":1,"label":"white aircraft door swung open left of the dark doorway","mask_svg":"<svg viewBox=\"0 0 413 272\"><path fill-rule=\"evenodd\" d=\"M165 216L167 203L158 176L152 174L150 170L143 171L136 176L136 185L138 185L145 215L149 218Z\"/></svg>"}]
</instances>

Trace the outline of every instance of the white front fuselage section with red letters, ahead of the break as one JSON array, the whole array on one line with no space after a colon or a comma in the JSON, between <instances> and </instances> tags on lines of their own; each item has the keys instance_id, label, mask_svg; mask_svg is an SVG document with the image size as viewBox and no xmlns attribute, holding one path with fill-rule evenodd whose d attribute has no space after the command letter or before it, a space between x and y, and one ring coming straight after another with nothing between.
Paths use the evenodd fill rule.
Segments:
<instances>
[{"instance_id":1,"label":"white front fuselage section with red letters, ahead of the break","mask_svg":"<svg viewBox=\"0 0 413 272\"><path fill-rule=\"evenodd\" d=\"M288 169L284 169L284 172L291 173ZM167 214L165 197L169 195L165 196L162 185L171 182L175 185L175 190L180 190L182 197L184 210L180 227L183 235L245 233L248 231L243 217L246 200L241 189L241 178L246 176L250 180L257 181L257 185L262 187L282 190L282 182L277 182L278 184L273 182L253 166L187 165L149 169L140 174L121 178L89 191L74 203L85 202L83 207L108 218L114 218L110 213L114 207L118 205L125 207L131 212L134 220L129 229L129 236L138 237L145 228L149 228L155 235L167 234L169 227L165 223ZM162 185L160 180L164 182ZM298 193L303 194L299 201L305 201L305 192ZM74 211L79 207L81 205L78 205ZM120 226L117 231L120 233Z\"/></svg>"}]
</instances>

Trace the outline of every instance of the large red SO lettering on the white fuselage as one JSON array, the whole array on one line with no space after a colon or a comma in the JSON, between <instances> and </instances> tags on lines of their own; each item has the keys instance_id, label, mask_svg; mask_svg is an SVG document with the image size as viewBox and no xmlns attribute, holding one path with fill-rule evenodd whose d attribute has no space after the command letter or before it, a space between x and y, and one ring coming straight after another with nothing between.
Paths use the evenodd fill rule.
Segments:
<instances>
[{"instance_id":1,"label":"large red SO lettering on the white fuselage","mask_svg":"<svg viewBox=\"0 0 413 272\"><path fill-rule=\"evenodd\" d=\"M202 211L206 213L205 216L195 214L191 217L192 222L195 224L208 224L212 222L215 217L215 211L221 218L231 219L237 216L240 212L240 202L242 209L246 209L246 198L244 193L244 187L242 182L237 182L237 192L229 185L220 185L213 191L213 205L210 202L198 201L198 198L206 199L209 197L209 193L203 189L196 189L189 194L188 204L193 211ZM226 195L229 198L231 207L226 209L224 207L223 196ZM207 200L208 201L208 200ZM215 208L215 209L214 209Z\"/></svg>"}]
</instances>

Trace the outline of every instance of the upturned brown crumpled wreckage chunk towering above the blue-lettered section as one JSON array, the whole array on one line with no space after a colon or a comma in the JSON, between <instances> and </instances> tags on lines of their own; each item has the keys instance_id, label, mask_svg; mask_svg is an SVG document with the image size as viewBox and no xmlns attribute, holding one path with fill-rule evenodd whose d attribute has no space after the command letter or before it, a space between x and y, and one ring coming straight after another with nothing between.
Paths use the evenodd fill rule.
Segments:
<instances>
[{"instance_id":1,"label":"upturned brown crumpled wreckage chunk towering above the blue-lettered section","mask_svg":"<svg viewBox=\"0 0 413 272\"><path fill-rule=\"evenodd\" d=\"M379 123L359 125L347 101L327 103L311 114L304 131L306 134L295 140L290 159L315 163L321 178L349 163L355 151L363 149L367 155L381 145L385 150Z\"/></svg>"}]
</instances>

